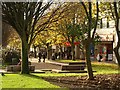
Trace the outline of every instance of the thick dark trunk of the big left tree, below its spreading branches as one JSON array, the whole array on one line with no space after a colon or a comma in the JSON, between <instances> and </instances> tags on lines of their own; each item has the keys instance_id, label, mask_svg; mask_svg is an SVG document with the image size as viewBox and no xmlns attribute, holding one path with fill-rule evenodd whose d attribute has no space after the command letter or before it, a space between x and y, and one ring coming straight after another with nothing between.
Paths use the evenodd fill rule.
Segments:
<instances>
[{"instance_id":1,"label":"thick dark trunk of the big left tree, below its spreading branches","mask_svg":"<svg viewBox=\"0 0 120 90\"><path fill-rule=\"evenodd\" d=\"M22 65L21 74L29 74L28 66L28 44L22 41Z\"/></svg>"}]
</instances>

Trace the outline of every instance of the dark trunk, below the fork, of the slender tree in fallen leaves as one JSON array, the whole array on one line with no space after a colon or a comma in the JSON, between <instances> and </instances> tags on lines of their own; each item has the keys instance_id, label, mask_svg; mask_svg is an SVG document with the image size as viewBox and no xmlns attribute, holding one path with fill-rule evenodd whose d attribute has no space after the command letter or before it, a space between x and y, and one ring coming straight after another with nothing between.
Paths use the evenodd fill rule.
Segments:
<instances>
[{"instance_id":1,"label":"dark trunk, below the fork, of the slender tree in fallen leaves","mask_svg":"<svg viewBox=\"0 0 120 90\"><path fill-rule=\"evenodd\" d=\"M90 80L94 79L92 65L90 60L90 40L88 39L86 42L86 63L87 63L87 71L88 71L88 78Z\"/></svg>"}]
</instances>

